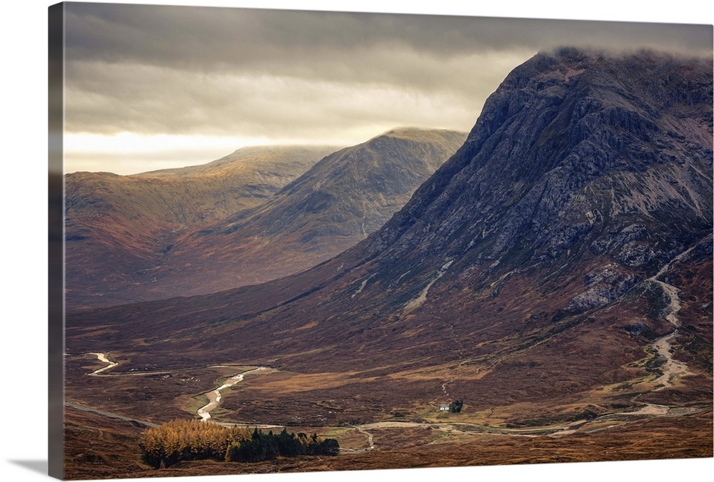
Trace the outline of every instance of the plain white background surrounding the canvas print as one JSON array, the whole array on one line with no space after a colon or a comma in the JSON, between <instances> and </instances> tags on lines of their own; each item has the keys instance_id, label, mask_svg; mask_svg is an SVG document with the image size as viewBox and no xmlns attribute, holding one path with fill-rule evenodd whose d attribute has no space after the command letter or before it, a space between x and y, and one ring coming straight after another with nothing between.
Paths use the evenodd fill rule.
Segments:
<instances>
[{"instance_id":1,"label":"plain white background surrounding the canvas print","mask_svg":"<svg viewBox=\"0 0 714 482\"><path fill-rule=\"evenodd\" d=\"M16 0L2 15L2 171L1 242L3 332L3 422L0 425L3 481L46 479L47 398L47 7L54 2ZM119 3L140 3L124 1ZM493 1L487 5L463 0L396 1L147 1L261 8L339 9L420 14L511 16L713 23L709 1L668 2ZM476 6L471 4L476 4ZM577 4L577 6L576 6ZM638 8L628 6L639 4ZM448 469L408 469L345 473L301 473L220 478L173 478L178 481L347 481L371 482L413 478L418 481L670 481L714 473L714 459L618 463L550 464ZM708 478L707 478L708 479ZM135 479L136 480L136 479ZM149 480L149 479L142 479Z\"/></svg>"}]
</instances>

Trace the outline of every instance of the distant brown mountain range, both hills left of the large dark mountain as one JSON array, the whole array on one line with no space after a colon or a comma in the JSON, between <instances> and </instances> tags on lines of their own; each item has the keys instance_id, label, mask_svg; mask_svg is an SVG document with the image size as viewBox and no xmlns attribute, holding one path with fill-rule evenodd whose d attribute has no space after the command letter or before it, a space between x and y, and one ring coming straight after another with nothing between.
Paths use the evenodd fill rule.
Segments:
<instances>
[{"instance_id":1,"label":"distant brown mountain range, both hills left of the large dark mountain","mask_svg":"<svg viewBox=\"0 0 714 482\"><path fill-rule=\"evenodd\" d=\"M99 253L104 262L94 257L88 266L79 257L86 255L81 246L93 242L84 235L89 228L74 226L81 212L76 200L83 198L69 188L67 240L79 243L79 248L71 246L69 285L84 289L76 297L91 306L217 292L306 270L381 227L464 138L466 133L453 130L395 128L311 165L298 155L322 154L326 148L242 148L188 168L128 177L71 175L80 181L98 177L90 186L104 180L103 191L110 194L100 193L101 201L116 190L124 192L108 179L139 185L147 193L124 193L115 200L119 207L89 200L91 214L104 212L106 241L116 237L117 242L111 253ZM291 156L296 165L288 168ZM186 190L195 178L206 180L205 193L171 194L172 186ZM284 180L282 185L278 180ZM221 187L228 182L235 185ZM123 199L126 205L120 205ZM142 203L156 209L142 212ZM200 209L191 210L196 203ZM117 232L127 226L131 237ZM84 232L78 235L78 230ZM94 237L105 242L101 229ZM129 255L121 254L132 248Z\"/></svg>"}]
</instances>

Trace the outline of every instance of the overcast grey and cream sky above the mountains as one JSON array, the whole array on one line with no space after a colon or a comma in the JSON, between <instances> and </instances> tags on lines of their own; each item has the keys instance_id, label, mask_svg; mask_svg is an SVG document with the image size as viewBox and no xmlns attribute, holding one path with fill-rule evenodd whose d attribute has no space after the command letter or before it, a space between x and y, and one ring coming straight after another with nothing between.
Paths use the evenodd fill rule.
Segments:
<instances>
[{"instance_id":1,"label":"overcast grey and cream sky above the mountains","mask_svg":"<svg viewBox=\"0 0 714 482\"><path fill-rule=\"evenodd\" d=\"M710 55L711 26L66 4L65 172L206 163L243 145L470 130L557 46Z\"/></svg>"}]
</instances>

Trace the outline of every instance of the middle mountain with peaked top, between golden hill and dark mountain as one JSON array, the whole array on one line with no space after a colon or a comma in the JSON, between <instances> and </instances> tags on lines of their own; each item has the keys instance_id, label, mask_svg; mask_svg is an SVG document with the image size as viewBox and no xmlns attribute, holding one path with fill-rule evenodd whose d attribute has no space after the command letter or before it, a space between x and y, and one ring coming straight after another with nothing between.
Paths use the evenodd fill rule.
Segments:
<instances>
[{"instance_id":1,"label":"middle mountain with peaked top, between golden hill and dark mountain","mask_svg":"<svg viewBox=\"0 0 714 482\"><path fill-rule=\"evenodd\" d=\"M381 227L465 139L399 128L338 150L258 207L179 237L145 299L257 284L328 260Z\"/></svg>"}]
</instances>

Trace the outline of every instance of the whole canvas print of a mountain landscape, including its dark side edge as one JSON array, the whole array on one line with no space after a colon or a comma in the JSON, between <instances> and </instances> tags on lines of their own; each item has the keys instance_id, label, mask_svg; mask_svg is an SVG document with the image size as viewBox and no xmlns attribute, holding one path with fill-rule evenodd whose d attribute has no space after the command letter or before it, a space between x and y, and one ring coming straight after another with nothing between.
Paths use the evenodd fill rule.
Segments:
<instances>
[{"instance_id":1,"label":"whole canvas print of a mountain landscape, including its dark side edge","mask_svg":"<svg viewBox=\"0 0 714 482\"><path fill-rule=\"evenodd\" d=\"M51 475L713 456L711 25L49 13Z\"/></svg>"}]
</instances>

